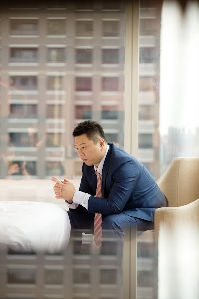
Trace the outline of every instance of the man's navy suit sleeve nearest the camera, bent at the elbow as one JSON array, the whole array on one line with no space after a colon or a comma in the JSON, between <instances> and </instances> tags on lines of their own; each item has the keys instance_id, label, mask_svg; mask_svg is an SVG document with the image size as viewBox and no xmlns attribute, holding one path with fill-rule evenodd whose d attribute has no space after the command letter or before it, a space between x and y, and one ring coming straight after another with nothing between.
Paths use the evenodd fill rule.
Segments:
<instances>
[{"instance_id":1,"label":"man's navy suit sleeve nearest the camera, bent at the elbow","mask_svg":"<svg viewBox=\"0 0 199 299\"><path fill-rule=\"evenodd\" d=\"M108 198L90 196L88 210L104 215L119 214L123 211L138 179L140 171L133 161L126 161L113 173L113 185Z\"/></svg>"}]
</instances>

